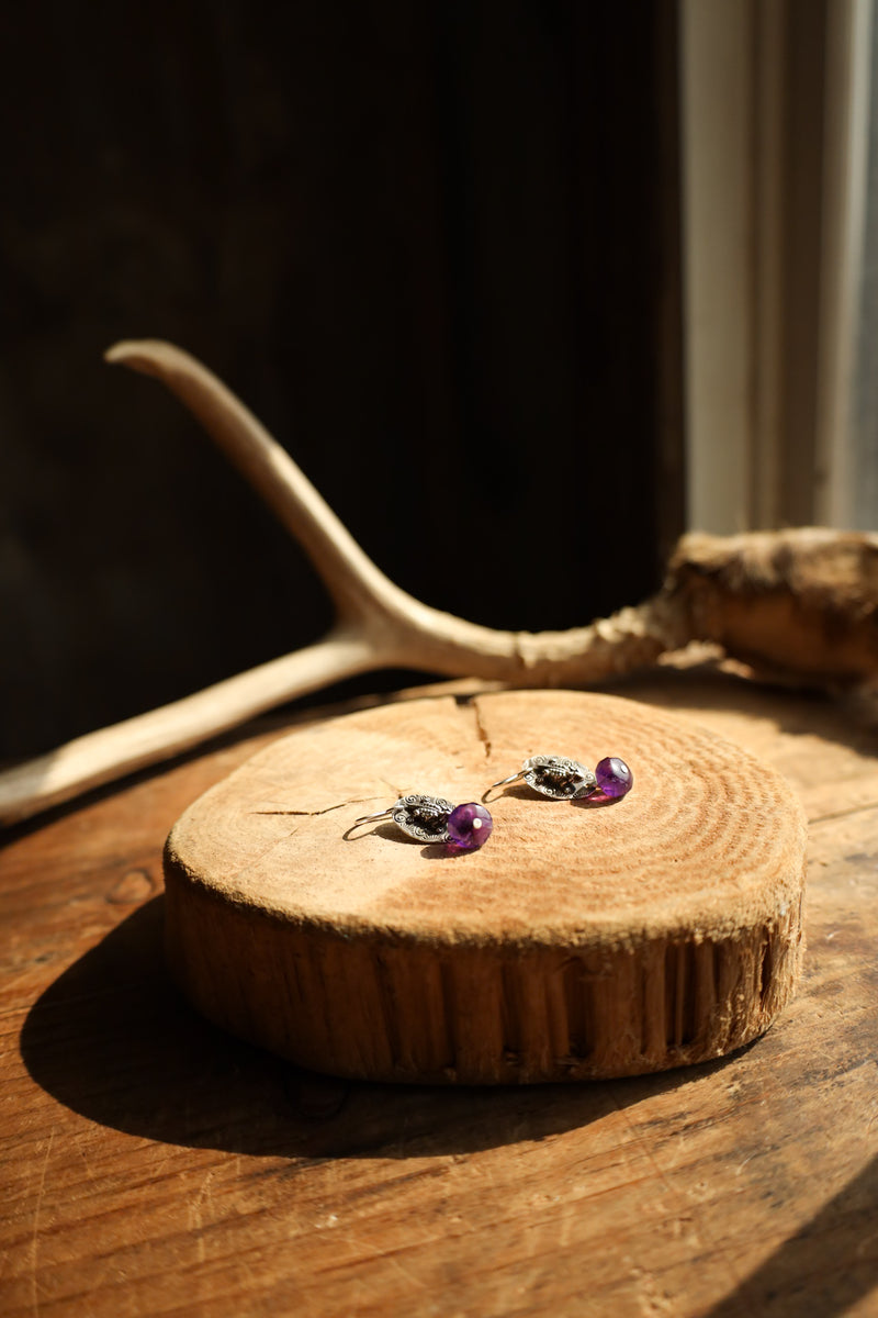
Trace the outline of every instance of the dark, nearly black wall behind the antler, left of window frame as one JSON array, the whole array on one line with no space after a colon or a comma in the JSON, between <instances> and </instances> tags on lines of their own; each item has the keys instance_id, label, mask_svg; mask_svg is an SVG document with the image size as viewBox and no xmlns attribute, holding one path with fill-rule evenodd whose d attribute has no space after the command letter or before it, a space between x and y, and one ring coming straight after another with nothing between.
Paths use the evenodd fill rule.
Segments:
<instances>
[{"instance_id":1,"label":"dark, nearly black wall behind the antler, left of window frame","mask_svg":"<svg viewBox=\"0 0 878 1318\"><path fill-rule=\"evenodd\" d=\"M201 357L432 605L555 629L657 585L683 519L674 12L4 7L0 757L330 621L179 405L103 364L121 337Z\"/></svg>"}]
</instances>

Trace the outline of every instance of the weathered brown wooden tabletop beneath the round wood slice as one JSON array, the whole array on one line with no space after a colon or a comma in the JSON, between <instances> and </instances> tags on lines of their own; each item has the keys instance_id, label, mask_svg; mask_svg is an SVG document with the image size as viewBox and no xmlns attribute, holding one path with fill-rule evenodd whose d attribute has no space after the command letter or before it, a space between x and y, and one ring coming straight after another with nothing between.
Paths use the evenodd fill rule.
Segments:
<instances>
[{"instance_id":1,"label":"weathered brown wooden tabletop beneath the round wood slice","mask_svg":"<svg viewBox=\"0 0 878 1318\"><path fill-rule=\"evenodd\" d=\"M265 737L13 836L3 1282L41 1314L878 1311L878 738L823 699L659 672L811 820L802 990L724 1061L625 1081L320 1079L207 1025L161 956L161 847Z\"/></svg>"}]
</instances>

